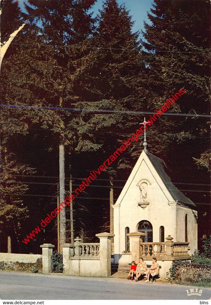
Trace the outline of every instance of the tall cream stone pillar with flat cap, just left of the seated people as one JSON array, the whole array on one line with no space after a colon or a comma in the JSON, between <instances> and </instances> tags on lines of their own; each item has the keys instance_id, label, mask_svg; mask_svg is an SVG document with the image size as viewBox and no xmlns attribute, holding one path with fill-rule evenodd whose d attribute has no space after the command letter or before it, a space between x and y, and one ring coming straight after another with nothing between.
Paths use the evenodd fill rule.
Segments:
<instances>
[{"instance_id":1,"label":"tall cream stone pillar with flat cap, just left of the seated people","mask_svg":"<svg viewBox=\"0 0 211 305\"><path fill-rule=\"evenodd\" d=\"M99 238L100 243L100 276L107 277L112 275L112 268L111 268L111 243L112 238L115 236L111 233L99 233L96 234Z\"/></svg>"}]
</instances>

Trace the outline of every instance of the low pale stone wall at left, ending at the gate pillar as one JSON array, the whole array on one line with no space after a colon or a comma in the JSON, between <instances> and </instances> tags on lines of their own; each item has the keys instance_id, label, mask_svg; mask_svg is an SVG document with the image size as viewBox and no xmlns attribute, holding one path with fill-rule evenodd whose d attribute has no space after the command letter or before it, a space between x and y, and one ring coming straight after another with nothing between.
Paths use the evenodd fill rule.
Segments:
<instances>
[{"instance_id":1,"label":"low pale stone wall at left, ending at the gate pillar","mask_svg":"<svg viewBox=\"0 0 211 305\"><path fill-rule=\"evenodd\" d=\"M0 270L41 272L42 255L0 253Z\"/></svg>"}]
</instances>

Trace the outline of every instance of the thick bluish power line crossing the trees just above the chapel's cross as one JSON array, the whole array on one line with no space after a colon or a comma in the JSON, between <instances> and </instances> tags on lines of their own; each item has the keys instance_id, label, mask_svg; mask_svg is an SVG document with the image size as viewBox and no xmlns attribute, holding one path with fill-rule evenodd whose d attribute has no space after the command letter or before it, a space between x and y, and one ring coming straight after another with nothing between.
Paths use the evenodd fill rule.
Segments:
<instances>
[{"instance_id":1,"label":"thick bluish power line crossing the trees just above the chapel's cross","mask_svg":"<svg viewBox=\"0 0 211 305\"><path fill-rule=\"evenodd\" d=\"M150 111L126 111L126 110L109 110L109 109L87 109L87 108L68 108L68 107L47 107L47 106L27 106L27 105L0 105L2 108L19 108L19 109L43 109L43 110L60 110L60 111L86 111L86 112L104 112L104 113L126 113L126 114L157 114L157 112ZM162 115L167 116L183 116L183 117L207 117L208 114L190 114L190 113L171 113L165 112Z\"/></svg>"}]
</instances>

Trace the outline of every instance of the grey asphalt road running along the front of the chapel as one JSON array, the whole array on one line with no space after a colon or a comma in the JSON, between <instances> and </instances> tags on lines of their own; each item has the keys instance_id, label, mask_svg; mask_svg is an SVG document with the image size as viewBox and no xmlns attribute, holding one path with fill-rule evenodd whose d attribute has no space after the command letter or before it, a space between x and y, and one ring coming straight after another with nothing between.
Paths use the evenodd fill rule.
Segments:
<instances>
[{"instance_id":1,"label":"grey asphalt road running along the front of the chapel","mask_svg":"<svg viewBox=\"0 0 211 305\"><path fill-rule=\"evenodd\" d=\"M187 296L196 288L166 283L145 283L122 278L95 278L0 272L1 299L209 299L211 288L202 295Z\"/></svg>"}]
</instances>

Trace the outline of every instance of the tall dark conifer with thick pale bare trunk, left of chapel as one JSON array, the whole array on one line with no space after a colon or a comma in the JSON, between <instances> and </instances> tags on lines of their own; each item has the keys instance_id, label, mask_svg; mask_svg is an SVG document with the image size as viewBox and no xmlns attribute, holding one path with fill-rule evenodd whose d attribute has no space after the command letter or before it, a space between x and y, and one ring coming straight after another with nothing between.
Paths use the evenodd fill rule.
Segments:
<instances>
[{"instance_id":1,"label":"tall dark conifer with thick pale bare trunk, left of chapel","mask_svg":"<svg viewBox=\"0 0 211 305\"><path fill-rule=\"evenodd\" d=\"M30 6L26 5L28 14L24 15L28 25L25 33L16 39L21 48L16 49L13 55L9 54L10 61L18 65L10 67L9 62L8 66L5 65L11 72L5 96L12 100L12 104L71 107L75 102L71 85L72 62L81 56L74 50L92 32L93 20L88 11L93 3L94 0L29 1ZM64 146L69 145L70 151L74 150L75 137L66 128L71 117L63 111L51 110L22 110L18 113L27 122L27 127L48 128L57 138L59 136L60 163L63 166ZM64 170L62 175L64 188ZM63 196L64 189L61 202ZM63 243L65 211L60 216Z\"/></svg>"}]
</instances>

